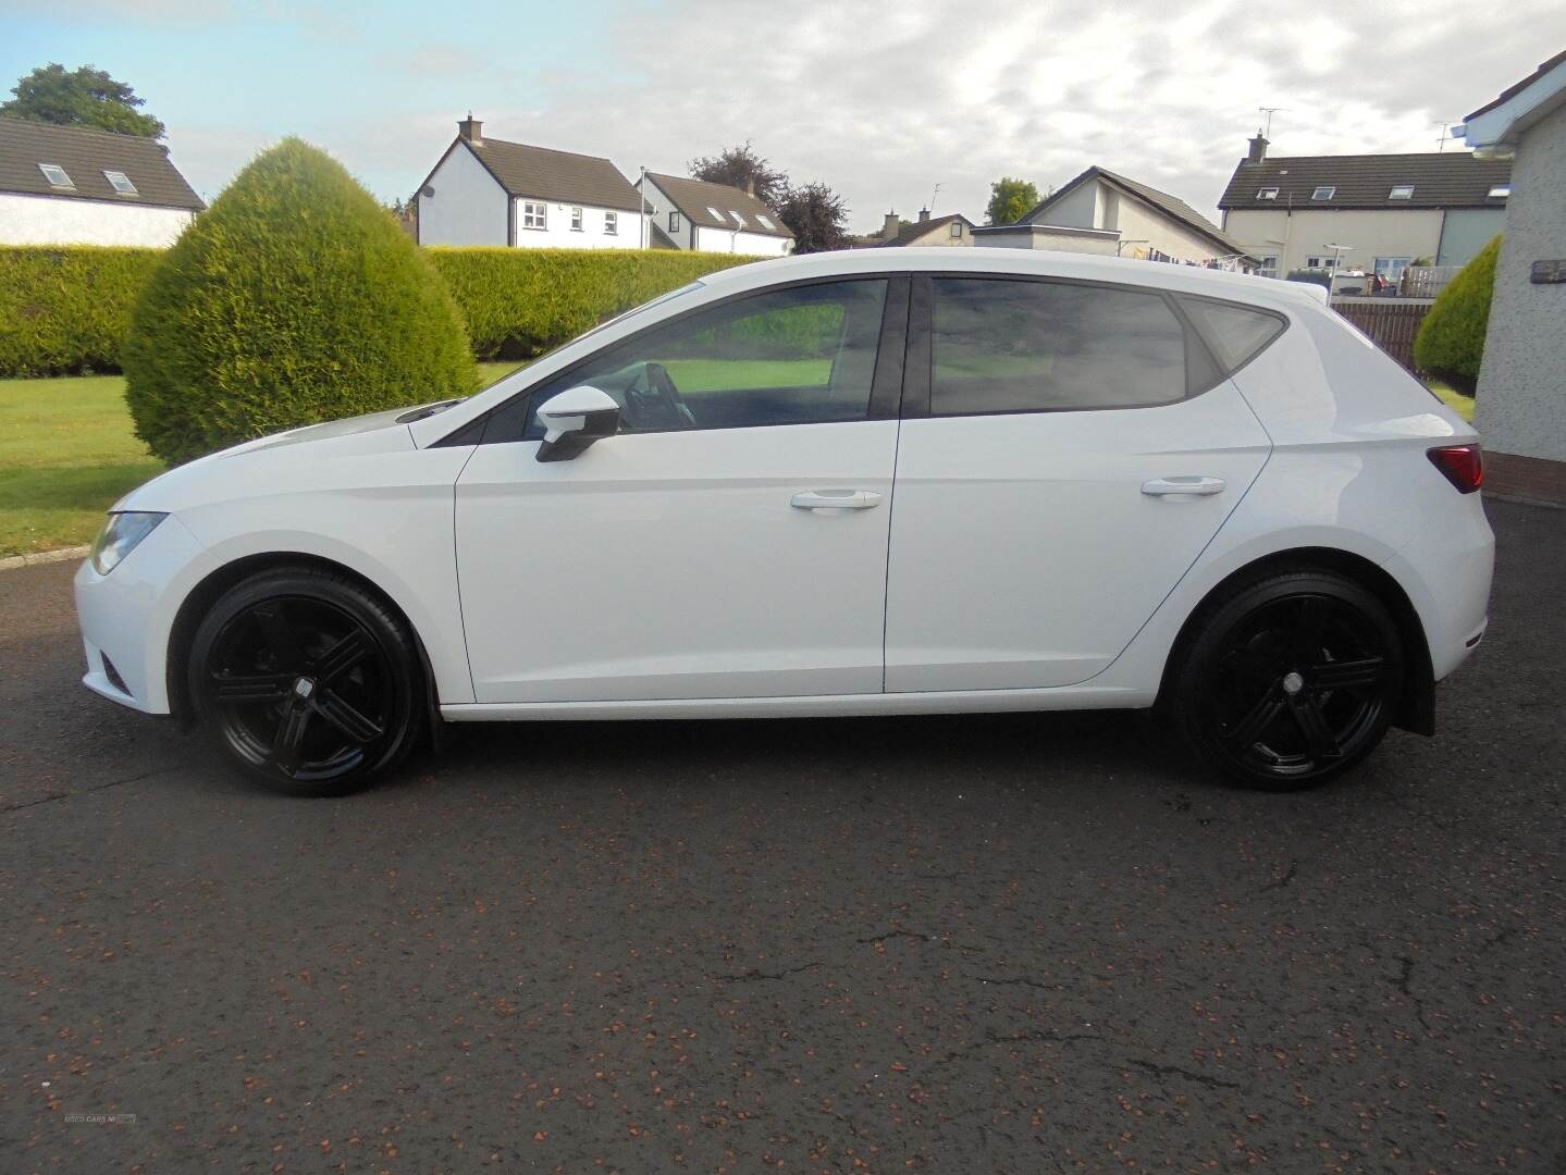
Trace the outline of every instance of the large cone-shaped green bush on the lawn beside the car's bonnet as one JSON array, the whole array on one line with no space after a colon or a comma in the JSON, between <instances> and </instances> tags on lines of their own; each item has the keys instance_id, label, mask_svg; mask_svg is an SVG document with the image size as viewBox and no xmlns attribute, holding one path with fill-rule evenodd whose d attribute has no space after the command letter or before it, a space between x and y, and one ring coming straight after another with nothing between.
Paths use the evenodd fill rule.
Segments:
<instances>
[{"instance_id":1,"label":"large cone-shaped green bush on the lawn beside the car's bonnet","mask_svg":"<svg viewBox=\"0 0 1566 1175\"><path fill-rule=\"evenodd\" d=\"M429 261L299 139L258 155L169 249L124 368L136 435L169 463L478 386Z\"/></svg>"}]
</instances>

